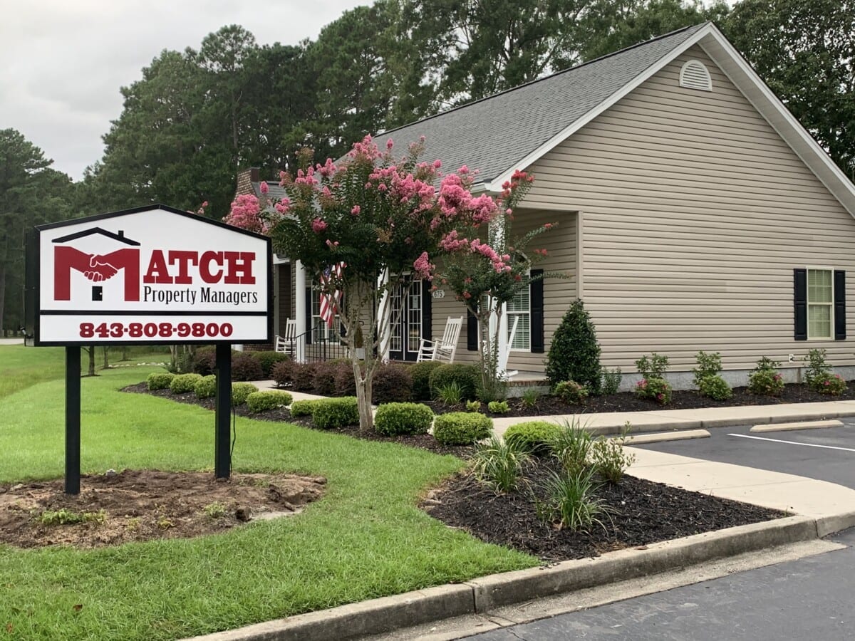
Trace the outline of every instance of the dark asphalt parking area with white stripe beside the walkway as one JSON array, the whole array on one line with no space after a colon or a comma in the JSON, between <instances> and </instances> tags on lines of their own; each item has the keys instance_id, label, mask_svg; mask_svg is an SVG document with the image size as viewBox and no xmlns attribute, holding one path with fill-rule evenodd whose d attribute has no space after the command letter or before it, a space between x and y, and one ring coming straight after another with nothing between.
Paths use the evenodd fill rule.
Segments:
<instances>
[{"instance_id":1,"label":"dark asphalt parking area with white stripe beside the walkway","mask_svg":"<svg viewBox=\"0 0 855 641\"><path fill-rule=\"evenodd\" d=\"M842 427L752 433L752 426L714 427L711 438L634 445L733 463L748 468L797 474L855 489L855 418L841 419Z\"/></svg>"}]
</instances>

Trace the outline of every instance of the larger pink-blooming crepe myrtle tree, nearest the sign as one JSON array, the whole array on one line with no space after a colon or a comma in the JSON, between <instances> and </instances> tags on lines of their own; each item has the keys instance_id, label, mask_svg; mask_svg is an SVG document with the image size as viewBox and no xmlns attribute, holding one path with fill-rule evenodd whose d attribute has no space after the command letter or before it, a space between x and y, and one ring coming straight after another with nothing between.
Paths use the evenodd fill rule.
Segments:
<instances>
[{"instance_id":1,"label":"larger pink-blooming crepe myrtle tree, nearest the sign","mask_svg":"<svg viewBox=\"0 0 855 641\"><path fill-rule=\"evenodd\" d=\"M321 295L339 292L342 341L351 347L360 322L390 326L391 305L384 301L407 273L433 277L431 256L458 221L488 221L496 209L491 197L473 197L464 187L464 170L443 175L441 162L420 162L424 138L403 159L391 150L391 141L381 151L366 136L338 163L312 166L310 151L298 154L296 175L280 173L285 197L275 203L239 197L225 218L269 234L278 253L298 259L310 273L329 274L321 279ZM391 338L385 329L365 334L364 361L350 350L363 431L373 426L372 380Z\"/></svg>"}]
</instances>

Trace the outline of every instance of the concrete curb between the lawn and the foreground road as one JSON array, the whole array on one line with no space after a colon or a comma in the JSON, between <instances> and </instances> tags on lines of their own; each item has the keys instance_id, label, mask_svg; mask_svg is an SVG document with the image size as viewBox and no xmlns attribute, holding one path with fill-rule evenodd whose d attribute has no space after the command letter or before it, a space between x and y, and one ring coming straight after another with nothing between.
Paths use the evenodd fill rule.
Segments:
<instances>
[{"instance_id":1,"label":"concrete curb between the lawn and the foreground road","mask_svg":"<svg viewBox=\"0 0 855 641\"><path fill-rule=\"evenodd\" d=\"M788 516L617 550L593 559L565 561L549 567L491 574L457 585L438 585L392 597L381 597L258 623L237 630L215 632L193 637L188 641L326 641L331 638L344 641L348 638L392 632L434 620L484 614L511 603L550 597L563 592L663 573L725 556L821 538L852 526L855 526L855 511L817 519L809 516Z\"/></svg>"}]
</instances>

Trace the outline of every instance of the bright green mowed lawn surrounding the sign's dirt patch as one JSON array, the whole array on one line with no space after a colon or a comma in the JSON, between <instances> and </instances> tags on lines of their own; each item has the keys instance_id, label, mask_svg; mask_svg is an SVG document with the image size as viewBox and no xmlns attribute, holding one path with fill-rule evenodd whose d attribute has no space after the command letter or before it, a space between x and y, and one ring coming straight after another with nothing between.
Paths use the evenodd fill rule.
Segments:
<instances>
[{"instance_id":1,"label":"bright green mowed lawn surrounding the sign's dirt patch","mask_svg":"<svg viewBox=\"0 0 855 641\"><path fill-rule=\"evenodd\" d=\"M10 349L0 347L4 373ZM45 379L62 376L62 360L50 365L34 348L14 357L43 382L0 397L0 483L59 477L64 390ZM83 379L83 471L213 468L212 413L118 391L145 373ZM538 563L416 509L426 488L461 468L451 456L238 419L233 464L321 474L327 495L300 515L210 537L88 551L0 544L0 633L184 637Z\"/></svg>"}]
</instances>

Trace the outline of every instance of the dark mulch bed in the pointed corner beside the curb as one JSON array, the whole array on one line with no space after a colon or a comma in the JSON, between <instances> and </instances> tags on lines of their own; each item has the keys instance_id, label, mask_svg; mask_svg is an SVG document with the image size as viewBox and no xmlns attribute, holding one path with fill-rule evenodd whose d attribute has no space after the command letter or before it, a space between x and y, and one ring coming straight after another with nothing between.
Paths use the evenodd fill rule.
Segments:
<instances>
[{"instance_id":1,"label":"dark mulch bed in the pointed corner beside the curb","mask_svg":"<svg viewBox=\"0 0 855 641\"><path fill-rule=\"evenodd\" d=\"M595 525L589 532L559 530L538 519L532 499L533 495L545 498L541 485L550 469L545 462L530 466L526 485L510 494L496 494L479 485L471 473L460 473L433 491L422 508L482 541L507 545L545 561L598 556L610 550L786 516L625 476L619 484L605 484L598 491L614 511L610 519L601 518L605 527Z\"/></svg>"}]
</instances>

